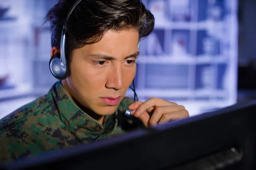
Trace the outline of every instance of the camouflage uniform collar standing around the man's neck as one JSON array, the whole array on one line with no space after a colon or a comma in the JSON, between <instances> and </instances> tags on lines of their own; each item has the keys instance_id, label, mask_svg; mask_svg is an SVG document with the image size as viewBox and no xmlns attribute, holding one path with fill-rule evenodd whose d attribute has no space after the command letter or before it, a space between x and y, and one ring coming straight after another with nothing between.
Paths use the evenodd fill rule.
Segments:
<instances>
[{"instance_id":1,"label":"camouflage uniform collar standing around the man's neck","mask_svg":"<svg viewBox=\"0 0 256 170\"><path fill-rule=\"evenodd\" d=\"M111 134L117 127L117 110L114 114L105 116L103 125L99 124L99 122L82 111L75 102L67 96L61 81L56 82L55 85L52 86L47 96L49 101L55 103L61 121L65 123L69 130L79 135L80 138Z\"/></svg>"}]
</instances>

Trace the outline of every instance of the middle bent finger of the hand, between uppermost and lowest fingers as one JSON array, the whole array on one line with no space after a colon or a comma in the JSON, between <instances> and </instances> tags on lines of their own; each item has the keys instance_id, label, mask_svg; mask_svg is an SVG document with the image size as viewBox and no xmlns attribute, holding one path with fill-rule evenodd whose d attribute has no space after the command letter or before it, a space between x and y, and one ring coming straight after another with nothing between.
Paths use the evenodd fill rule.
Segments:
<instances>
[{"instance_id":1,"label":"middle bent finger of the hand, between uppermost and lowest fingers","mask_svg":"<svg viewBox=\"0 0 256 170\"><path fill-rule=\"evenodd\" d=\"M181 111L181 110L185 110L185 107L182 105L157 107L157 108L155 108L154 113L152 114L152 116L149 120L149 125L151 125L151 126L157 125L157 122L160 121L160 118L165 113Z\"/></svg>"}]
</instances>

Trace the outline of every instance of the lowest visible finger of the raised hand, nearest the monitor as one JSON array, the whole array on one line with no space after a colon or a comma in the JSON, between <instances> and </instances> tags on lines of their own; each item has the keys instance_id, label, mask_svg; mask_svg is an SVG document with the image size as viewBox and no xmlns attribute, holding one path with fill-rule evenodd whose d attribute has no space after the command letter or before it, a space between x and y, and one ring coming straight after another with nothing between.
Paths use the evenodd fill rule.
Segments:
<instances>
[{"instance_id":1,"label":"lowest visible finger of the raised hand, nearest the monitor","mask_svg":"<svg viewBox=\"0 0 256 170\"><path fill-rule=\"evenodd\" d=\"M169 122L170 120L181 119L189 116L189 112L187 110L169 112L163 114L158 124L163 124Z\"/></svg>"}]
</instances>

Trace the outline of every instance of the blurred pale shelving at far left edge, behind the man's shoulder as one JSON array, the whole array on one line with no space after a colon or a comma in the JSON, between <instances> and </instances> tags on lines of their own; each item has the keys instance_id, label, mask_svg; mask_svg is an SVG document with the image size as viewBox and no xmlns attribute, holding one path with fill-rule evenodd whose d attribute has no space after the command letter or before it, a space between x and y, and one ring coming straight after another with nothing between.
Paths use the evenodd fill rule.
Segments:
<instances>
[{"instance_id":1,"label":"blurred pale shelving at far left edge, behind the man's shoulder","mask_svg":"<svg viewBox=\"0 0 256 170\"><path fill-rule=\"evenodd\" d=\"M0 101L27 96L31 92L32 86L24 75L28 42L26 36L22 35L28 25L28 20L23 20L21 17L0 18L0 65L2 64L0 71L1 74L9 75L4 85L0 87Z\"/></svg>"}]
</instances>

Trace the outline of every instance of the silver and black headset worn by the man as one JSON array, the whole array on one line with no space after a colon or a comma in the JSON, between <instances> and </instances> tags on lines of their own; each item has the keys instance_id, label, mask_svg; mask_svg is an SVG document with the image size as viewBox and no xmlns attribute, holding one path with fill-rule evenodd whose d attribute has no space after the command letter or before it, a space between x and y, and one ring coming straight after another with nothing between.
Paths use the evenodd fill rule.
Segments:
<instances>
[{"instance_id":1,"label":"silver and black headset worn by the man","mask_svg":"<svg viewBox=\"0 0 256 170\"><path fill-rule=\"evenodd\" d=\"M67 19L66 19L66 23L70 18L70 15L73 13L74 9L76 8L76 6L79 5L79 3L82 0L77 0L76 3L71 7L70 11L67 14ZM65 25L62 28L62 33L61 33L61 44L60 44L60 50L61 50L61 54L55 54L51 57L50 61L49 61L49 68L50 71L52 73L52 75L59 80L63 80L66 79L69 74L69 68L68 68L68 63L67 63L67 58L65 55L65 41L66 41L66 28ZM140 42L138 44L138 48L139 48ZM134 92L134 102L136 100L138 100L138 96L135 92L135 85L134 85L134 80L132 81L133 84L133 88L131 88L131 90Z\"/></svg>"}]
</instances>

